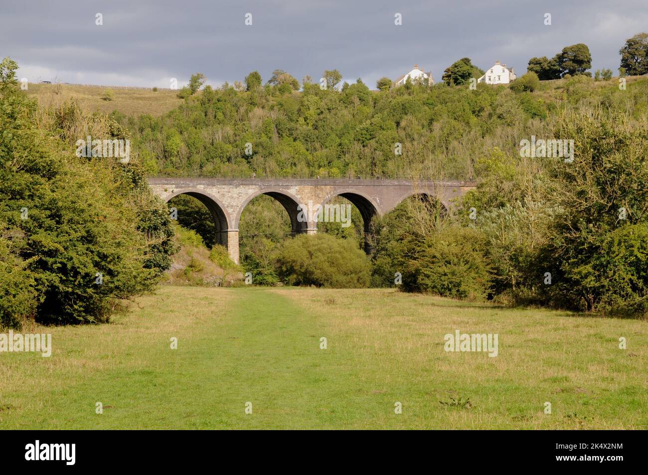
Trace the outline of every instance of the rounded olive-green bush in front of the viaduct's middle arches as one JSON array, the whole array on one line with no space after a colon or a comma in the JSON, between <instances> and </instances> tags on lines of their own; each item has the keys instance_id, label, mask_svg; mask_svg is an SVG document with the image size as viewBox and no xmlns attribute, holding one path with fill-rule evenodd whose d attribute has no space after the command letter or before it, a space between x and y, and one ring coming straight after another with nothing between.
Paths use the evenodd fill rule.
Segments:
<instances>
[{"instance_id":1,"label":"rounded olive-green bush in front of the viaduct's middle arches","mask_svg":"<svg viewBox=\"0 0 648 475\"><path fill-rule=\"evenodd\" d=\"M277 266L288 285L359 288L369 286L371 276L369 259L356 242L323 233L285 240Z\"/></svg>"}]
</instances>

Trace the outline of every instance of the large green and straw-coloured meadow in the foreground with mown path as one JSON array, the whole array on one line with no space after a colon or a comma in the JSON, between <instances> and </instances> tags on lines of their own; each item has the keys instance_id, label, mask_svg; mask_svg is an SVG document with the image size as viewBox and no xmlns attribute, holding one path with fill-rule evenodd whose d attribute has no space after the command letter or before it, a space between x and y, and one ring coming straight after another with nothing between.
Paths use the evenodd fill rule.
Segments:
<instances>
[{"instance_id":1,"label":"large green and straw-coloured meadow in the foreground with mown path","mask_svg":"<svg viewBox=\"0 0 648 475\"><path fill-rule=\"evenodd\" d=\"M498 356L446 353L457 329L498 334ZM23 331L50 332L52 356L0 353L0 429L648 428L645 320L165 286L108 325Z\"/></svg>"}]
</instances>

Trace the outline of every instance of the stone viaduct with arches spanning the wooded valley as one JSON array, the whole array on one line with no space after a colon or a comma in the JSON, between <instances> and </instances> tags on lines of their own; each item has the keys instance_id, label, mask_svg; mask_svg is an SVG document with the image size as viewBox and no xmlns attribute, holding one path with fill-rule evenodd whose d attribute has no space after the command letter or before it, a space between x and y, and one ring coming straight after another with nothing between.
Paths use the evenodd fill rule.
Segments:
<instances>
[{"instance_id":1,"label":"stone viaduct with arches spanning the wooded valley","mask_svg":"<svg viewBox=\"0 0 648 475\"><path fill-rule=\"evenodd\" d=\"M290 216L292 233L316 233L317 216L309 213L331 198L343 196L364 220L365 233L376 214L382 216L409 196L429 197L449 209L453 198L475 187L474 181L304 180L238 178L149 178L157 196L168 202L178 194L200 200L216 224L216 242L238 263L238 221L246 205L260 194L275 198ZM300 213L301 212L301 213ZM309 215L310 214L310 215Z\"/></svg>"}]
</instances>

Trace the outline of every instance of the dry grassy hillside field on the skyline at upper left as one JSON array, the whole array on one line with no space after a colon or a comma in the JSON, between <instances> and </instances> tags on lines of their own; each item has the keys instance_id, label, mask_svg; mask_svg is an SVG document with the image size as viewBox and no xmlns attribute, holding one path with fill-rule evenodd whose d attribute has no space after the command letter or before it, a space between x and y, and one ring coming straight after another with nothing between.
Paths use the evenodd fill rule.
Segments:
<instances>
[{"instance_id":1,"label":"dry grassy hillside field on the skyline at upper left","mask_svg":"<svg viewBox=\"0 0 648 475\"><path fill-rule=\"evenodd\" d=\"M104 100L104 91L112 89L113 100ZM81 108L104 113L118 110L137 117L141 114L162 115L182 104L178 91L172 89L139 89L137 87L81 86L78 84L29 84L27 94L38 98L43 106L50 104L57 96L75 98ZM58 102L58 101L57 101Z\"/></svg>"}]
</instances>

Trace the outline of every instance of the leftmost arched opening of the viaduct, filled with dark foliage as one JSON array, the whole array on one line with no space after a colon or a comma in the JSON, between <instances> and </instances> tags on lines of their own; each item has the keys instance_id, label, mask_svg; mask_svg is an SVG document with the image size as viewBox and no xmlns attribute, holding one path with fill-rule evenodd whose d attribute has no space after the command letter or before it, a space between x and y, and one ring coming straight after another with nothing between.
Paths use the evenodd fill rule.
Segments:
<instances>
[{"instance_id":1,"label":"leftmost arched opening of the viaduct, filled with dark foliage","mask_svg":"<svg viewBox=\"0 0 648 475\"><path fill-rule=\"evenodd\" d=\"M216 201L200 192L182 192L167 201L176 208L178 224L196 231L208 248L220 244L227 248L227 216Z\"/></svg>"}]
</instances>

